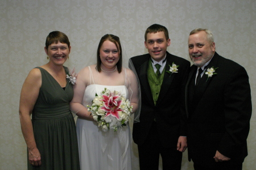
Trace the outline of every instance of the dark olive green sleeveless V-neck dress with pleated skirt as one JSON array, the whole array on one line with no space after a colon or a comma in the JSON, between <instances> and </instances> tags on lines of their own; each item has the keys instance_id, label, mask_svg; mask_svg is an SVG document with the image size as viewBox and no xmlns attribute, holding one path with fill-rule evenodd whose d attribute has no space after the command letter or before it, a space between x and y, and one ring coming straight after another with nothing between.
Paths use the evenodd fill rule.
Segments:
<instances>
[{"instance_id":1,"label":"dark olive green sleeveless V-neck dress with pleated skirt","mask_svg":"<svg viewBox=\"0 0 256 170\"><path fill-rule=\"evenodd\" d=\"M80 169L76 125L69 109L73 88L67 80L62 88L48 71L42 74L42 87L32 112L32 125L42 165L28 169ZM68 68L64 67L68 73Z\"/></svg>"}]
</instances>

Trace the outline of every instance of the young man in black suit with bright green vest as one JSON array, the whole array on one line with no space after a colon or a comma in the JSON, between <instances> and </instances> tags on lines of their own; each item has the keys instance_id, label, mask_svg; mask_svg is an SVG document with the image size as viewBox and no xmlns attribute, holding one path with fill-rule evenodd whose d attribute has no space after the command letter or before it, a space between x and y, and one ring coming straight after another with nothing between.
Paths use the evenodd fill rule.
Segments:
<instances>
[{"instance_id":1,"label":"young man in black suit with bright green vest","mask_svg":"<svg viewBox=\"0 0 256 170\"><path fill-rule=\"evenodd\" d=\"M187 147L180 103L190 62L167 52L171 40L166 27L153 24L144 38L148 54L131 58L141 83L140 122L133 126L140 169L158 169L159 154L163 169L180 169Z\"/></svg>"}]
</instances>

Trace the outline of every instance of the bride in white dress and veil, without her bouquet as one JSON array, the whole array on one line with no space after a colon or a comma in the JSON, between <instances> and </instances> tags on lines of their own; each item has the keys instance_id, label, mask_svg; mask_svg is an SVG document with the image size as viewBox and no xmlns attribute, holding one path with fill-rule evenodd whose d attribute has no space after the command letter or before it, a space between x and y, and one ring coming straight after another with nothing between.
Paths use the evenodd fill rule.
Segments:
<instances>
[{"instance_id":1,"label":"bride in white dress and veil, without her bouquet","mask_svg":"<svg viewBox=\"0 0 256 170\"><path fill-rule=\"evenodd\" d=\"M129 124L117 131L104 132L93 120L86 105L100 95L104 88L121 92L137 111L139 86L133 71L122 67L122 48L119 38L105 35L97 50L97 65L82 69L74 86L71 110L76 113L77 138L81 169L131 169L131 134ZM136 121L138 117L136 117Z\"/></svg>"}]
</instances>

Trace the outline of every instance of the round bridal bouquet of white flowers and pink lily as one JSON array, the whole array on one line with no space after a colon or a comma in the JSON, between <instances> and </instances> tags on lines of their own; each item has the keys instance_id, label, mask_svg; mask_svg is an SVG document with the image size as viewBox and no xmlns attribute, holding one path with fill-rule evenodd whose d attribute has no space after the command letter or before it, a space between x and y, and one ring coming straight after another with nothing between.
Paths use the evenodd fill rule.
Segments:
<instances>
[{"instance_id":1,"label":"round bridal bouquet of white flowers and pink lily","mask_svg":"<svg viewBox=\"0 0 256 170\"><path fill-rule=\"evenodd\" d=\"M96 94L92 105L86 107L103 131L109 129L117 131L118 128L126 126L133 109L130 101L125 99L120 92L111 92L107 88L101 92L100 96Z\"/></svg>"}]
</instances>

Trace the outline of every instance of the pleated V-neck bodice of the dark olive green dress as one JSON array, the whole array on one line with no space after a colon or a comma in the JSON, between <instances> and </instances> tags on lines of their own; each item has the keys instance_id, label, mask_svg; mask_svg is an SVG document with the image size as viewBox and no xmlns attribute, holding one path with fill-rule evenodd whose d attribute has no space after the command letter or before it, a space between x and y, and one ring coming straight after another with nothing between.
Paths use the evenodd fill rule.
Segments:
<instances>
[{"instance_id":1,"label":"pleated V-neck bodice of the dark olive green dress","mask_svg":"<svg viewBox=\"0 0 256 170\"><path fill-rule=\"evenodd\" d=\"M68 83L65 90L53 78L47 70L42 67L36 67L42 74L42 86L40 87L38 99L36 100L32 117L37 118L58 118L71 114L69 102L73 98L73 88ZM66 74L68 68L64 67Z\"/></svg>"}]
</instances>

